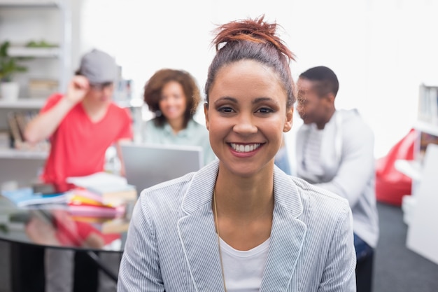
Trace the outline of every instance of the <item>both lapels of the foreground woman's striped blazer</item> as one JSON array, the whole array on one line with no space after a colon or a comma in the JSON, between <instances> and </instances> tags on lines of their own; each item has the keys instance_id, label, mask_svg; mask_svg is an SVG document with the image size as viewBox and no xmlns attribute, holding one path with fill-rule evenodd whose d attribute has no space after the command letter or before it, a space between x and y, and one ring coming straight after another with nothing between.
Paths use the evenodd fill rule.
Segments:
<instances>
[{"instance_id":1,"label":"both lapels of the foreground woman's striped blazer","mask_svg":"<svg viewBox=\"0 0 438 292\"><path fill-rule=\"evenodd\" d=\"M190 275L197 291L223 291L211 199L219 161L216 159L197 172L183 198L186 216L178 221L178 232ZM290 176L274 169L274 220L267 263L260 291L285 291L302 251L306 225L297 217L302 202Z\"/></svg>"}]
</instances>

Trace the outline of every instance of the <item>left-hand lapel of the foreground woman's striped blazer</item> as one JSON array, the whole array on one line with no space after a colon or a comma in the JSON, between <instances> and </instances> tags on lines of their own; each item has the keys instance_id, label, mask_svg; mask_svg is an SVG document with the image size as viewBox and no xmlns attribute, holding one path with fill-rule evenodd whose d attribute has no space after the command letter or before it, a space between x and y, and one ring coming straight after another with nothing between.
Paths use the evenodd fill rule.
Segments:
<instances>
[{"instance_id":1,"label":"left-hand lapel of the foreground woman's striped blazer","mask_svg":"<svg viewBox=\"0 0 438 292\"><path fill-rule=\"evenodd\" d=\"M178 221L185 260L197 291L224 291L218 237L211 211L217 173L218 160L193 176L183 199L182 207L186 216Z\"/></svg>"}]
</instances>

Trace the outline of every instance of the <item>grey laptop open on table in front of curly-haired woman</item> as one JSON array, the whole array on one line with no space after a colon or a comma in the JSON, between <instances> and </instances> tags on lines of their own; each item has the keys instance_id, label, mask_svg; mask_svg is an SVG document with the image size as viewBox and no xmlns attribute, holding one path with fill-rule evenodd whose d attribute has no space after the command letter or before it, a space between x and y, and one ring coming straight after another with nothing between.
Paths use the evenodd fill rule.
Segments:
<instances>
[{"instance_id":1,"label":"grey laptop open on table in front of curly-haired woman","mask_svg":"<svg viewBox=\"0 0 438 292\"><path fill-rule=\"evenodd\" d=\"M201 146L120 144L127 183L144 188L196 172L204 165Z\"/></svg>"}]
</instances>

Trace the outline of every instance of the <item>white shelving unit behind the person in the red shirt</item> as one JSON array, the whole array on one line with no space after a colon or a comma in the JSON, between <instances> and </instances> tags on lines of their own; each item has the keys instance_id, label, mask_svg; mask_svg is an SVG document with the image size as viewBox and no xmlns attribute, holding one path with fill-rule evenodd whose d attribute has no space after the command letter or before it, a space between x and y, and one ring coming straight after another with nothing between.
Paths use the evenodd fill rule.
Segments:
<instances>
[{"instance_id":1,"label":"white shelving unit behind the person in the red shirt","mask_svg":"<svg viewBox=\"0 0 438 292\"><path fill-rule=\"evenodd\" d=\"M17 100L0 97L0 157L34 159L47 151L10 148L10 113L38 111L52 92L64 91L73 70L72 0L0 0L0 42L10 41L8 54L25 57L27 71L16 74ZM26 153L30 153L29 155ZM39 156L38 156L39 157Z\"/></svg>"}]
</instances>

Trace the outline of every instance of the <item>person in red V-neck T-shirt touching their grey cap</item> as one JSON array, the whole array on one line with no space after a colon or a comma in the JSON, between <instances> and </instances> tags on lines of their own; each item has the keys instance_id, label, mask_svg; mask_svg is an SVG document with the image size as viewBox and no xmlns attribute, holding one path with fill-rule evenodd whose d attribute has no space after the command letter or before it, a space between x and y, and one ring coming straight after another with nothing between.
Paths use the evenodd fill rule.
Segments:
<instances>
[{"instance_id":1,"label":"person in red V-neck T-shirt touching their grey cap","mask_svg":"<svg viewBox=\"0 0 438 292\"><path fill-rule=\"evenodd\" d=\"M50 141L41 180L52 185L54 191L73 188L66 183L69 176L103 172L106 150L113 145L121 162L120 174L125 174L119 145L133 139L132 116L112 100L117 72L113 57L91 50L83 55L66 93L50 96L27 125L24 138L30 144ZM45 250L45 291L71 291L73 254Z\"/></svg>"}]
</instances>

